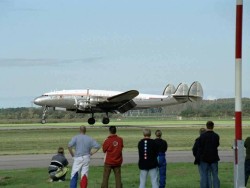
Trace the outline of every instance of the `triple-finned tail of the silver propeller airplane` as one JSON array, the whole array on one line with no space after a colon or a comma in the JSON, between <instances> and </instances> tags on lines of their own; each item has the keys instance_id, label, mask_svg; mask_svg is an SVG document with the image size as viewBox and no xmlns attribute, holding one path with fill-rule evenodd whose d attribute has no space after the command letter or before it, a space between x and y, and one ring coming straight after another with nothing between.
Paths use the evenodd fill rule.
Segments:
<instances>
[{"instance_id":1,"label":"triple-finned tail of the silver propeller airplane","mask_svg":"<svg viewBox=\"0 0 250 188\"><path fill-rule=\"evenodd\" d=\"M172 95L179 102L195 102L203 98L203 89L198 81L195 81L188 87L187 84L180 83L177 88L168 84L163 91L163 95Z\"/></svg>"}]
</instances>

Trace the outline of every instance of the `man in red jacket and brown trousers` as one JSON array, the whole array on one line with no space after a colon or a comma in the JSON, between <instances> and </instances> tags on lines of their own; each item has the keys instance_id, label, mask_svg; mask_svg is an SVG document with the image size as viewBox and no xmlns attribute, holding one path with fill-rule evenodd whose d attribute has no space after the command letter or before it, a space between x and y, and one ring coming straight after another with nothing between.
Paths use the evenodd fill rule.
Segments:
<instances>
[{"instance_id":1,"label":"man in red jacket and brown trousers","mask_svg":"<svg viewBox=\"0 0 250 188\"><path fill-rule=\"evenodd\" d=\"M106 138L102 145L102 150L105 153L102 188L108 188L108 181L111 170L113 170L115 174L116 188L122 188L121 164L123 161L123 139L116 135L115 126L109 127L109 133L110 135Z\"/></svg>"}]
</instances>

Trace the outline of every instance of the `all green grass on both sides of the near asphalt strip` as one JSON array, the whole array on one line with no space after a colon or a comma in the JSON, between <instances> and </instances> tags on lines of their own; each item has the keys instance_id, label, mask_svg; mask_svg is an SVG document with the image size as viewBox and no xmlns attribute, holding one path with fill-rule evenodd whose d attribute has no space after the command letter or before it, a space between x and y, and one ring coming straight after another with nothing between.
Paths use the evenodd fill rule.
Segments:
<instances>
[{"instance_id":1,"label":"all green grass on both sides of the near asphalt strip","mask_svg":"<svg viewBox=\"0 0 250 188\"><path fill-rule=\"evenodd\" d=\"M116 122L118 134L124 138L124 152L136 151L137 143L142 138L142 128L149 126L154 133L156 129L163 132L167 140L169 151L191 150L198 130L204 127L206 121L130 121ZM79 126L86 123L58 123L58 124L0 124L0 155L10 154L45 154L55 153L58 146L67 148L69 140L78 133ZM234 141L234 121L215 121L214 131L220 135L219 150L231 150ZM243 139L249 135L249 122L243 122ZM87 126L87 134L99 143L108 135L104 126ZM152 135L153 136L153 135ZM100 187L102 166L91 167L89 187ZM138 187L139 170L136 164L124 165L122 168L123 184L125 188ZM221 187L233 187L233 164L220 163L219 176ZM69 176L68 176L69 177ZM199 176L197 166L192 163L168 164L167 186L170 188L198 188ZM69 180L63 183L48 183L47 168L1 170L0 187L68 187ZM111 176L110 188L114 187ZM149 183L148 183L148 187Z\"/></svg>"}]
</instances>

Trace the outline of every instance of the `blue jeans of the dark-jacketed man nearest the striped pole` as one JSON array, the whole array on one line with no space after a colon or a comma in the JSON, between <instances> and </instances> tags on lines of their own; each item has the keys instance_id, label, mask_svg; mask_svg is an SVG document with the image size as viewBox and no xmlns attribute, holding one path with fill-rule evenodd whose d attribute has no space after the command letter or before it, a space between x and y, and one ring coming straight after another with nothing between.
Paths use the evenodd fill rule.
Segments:
<instances>
[{"instance_id":1,"label":"blue jeans of the dark-jacketed man nearest the striped pole","mask_svg":"<svg viewBox=\"0 0 250 188\"><path fill-rule=\"evenodd\" d=\"M200 187L201 188L209 188L209 180L208 177L212 174L212 185L213 188L220 188L220 180L218 177L218 162L215 163L206 163L201 161L200 162ZM212 186L211 186L212 187Z\"/></svg>"}]
</instances>

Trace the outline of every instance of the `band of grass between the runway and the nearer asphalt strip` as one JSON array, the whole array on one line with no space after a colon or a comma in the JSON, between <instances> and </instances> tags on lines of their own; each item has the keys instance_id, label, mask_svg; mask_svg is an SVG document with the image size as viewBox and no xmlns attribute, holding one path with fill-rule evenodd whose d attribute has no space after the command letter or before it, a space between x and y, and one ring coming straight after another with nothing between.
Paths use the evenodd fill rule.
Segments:
<instances>
[{"instance_id":1,"label":"band of grass between the runway and the nearer asphalt strip","mask_svg":"<svg viewBox=\"0 0 250 188\"><path fill-rule=\"evenodd\" d=\"M57 127L40 127L39 129L26 129L11 127L11 129L0 130L0 155L10 154L46 154L55 153L58 146L67 148L69 140L78 134L80 124L72 126L57 125ZM20 126L20 125L18 125ZM160 129L163 138L167 140L169 150L181 151L191 150L194 140L198 136L198 125L165 125ZM125 151L136 151L137 143L142 138L143 127L119 127L118 134L123 137ZM150 127L152 136L157 127ZM216 125L215 132L220 135L219 150L231 150L234 141L234 126ZM250 126L243 127L243 139L248 136ZM92 126L87 128L87 134L102 143L108 135L108 129L104 126Z\"/></svg>"}]
</instances>

